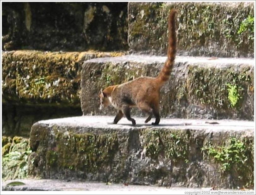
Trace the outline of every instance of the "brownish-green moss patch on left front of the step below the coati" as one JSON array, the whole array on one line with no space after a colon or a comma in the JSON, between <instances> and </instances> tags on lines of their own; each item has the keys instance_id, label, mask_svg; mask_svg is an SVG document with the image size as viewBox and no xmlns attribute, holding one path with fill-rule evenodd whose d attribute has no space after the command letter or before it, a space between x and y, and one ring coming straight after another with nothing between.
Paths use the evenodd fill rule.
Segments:
<instances>
[{"instance_id":1,"label":"brownish-green moss patch on left front of the step below the coati","mask_svg":"<svg viewBox=\"0 0 256 195\"><path fill-rule=\"evenodd\" d=\"M57 131L56 131L57 132ZM118 150L115 133L94 135L73 132L56 133L56 150L46 152L49 168L96 171L108 166ZM61 157L61 158L58 158Z\"/></svg>"}]
</instances>

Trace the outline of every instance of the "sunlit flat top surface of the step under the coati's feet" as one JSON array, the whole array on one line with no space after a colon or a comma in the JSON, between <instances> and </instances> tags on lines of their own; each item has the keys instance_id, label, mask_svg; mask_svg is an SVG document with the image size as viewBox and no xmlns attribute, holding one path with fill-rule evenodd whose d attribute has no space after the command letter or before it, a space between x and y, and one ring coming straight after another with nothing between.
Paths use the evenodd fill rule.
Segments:
<instances>
[{"instance_id":1,"label":"sunlit flat top surface of the step under the coati's feet","mask_svg":"<svg viewBox=\"0 0 256 195\"><path fill-rule=\"evenodd\" d=\"M68 118L56 118L50 120L42 120L36 124L47 125L49 128L57 125L61 127L72 127L76 129L97 129L102 128L108 130L132 130L132 129L176 129L176 130L199 130L199 131L232 131L232 132L247 132L248 135L253 135L254 122L242 121L242 120L207 120L207 119L183 119L183 118L161 118L159 125L151 125L144 123L146 118L134 117L136 125L133 126L131 121L128 121L125 117L122 118L118 124L107 124L112 122L115 116L81 116L81 117L68 117ZM154 118L151 119L151 122ZM211 124L218 123L218 124ZM80 132L82 133L82 132Z\"/></svg>"}]
</instances>

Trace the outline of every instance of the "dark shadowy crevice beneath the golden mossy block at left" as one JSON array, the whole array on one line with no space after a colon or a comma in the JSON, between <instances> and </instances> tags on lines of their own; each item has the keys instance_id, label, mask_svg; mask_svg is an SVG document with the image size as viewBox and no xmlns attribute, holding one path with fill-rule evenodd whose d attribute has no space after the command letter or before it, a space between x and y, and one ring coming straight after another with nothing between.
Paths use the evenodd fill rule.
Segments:
<instances>
[{"instance_id":1,"label":"dark shadowy crevice beneath the golden mossy block at left","mask_svg":"<svg viewBox=\"0 0 256 195\"><path fill-rule=\"evenodd\" d=\"M2 134L29 137L30 128L39 120L81 116L81 108L61 105L2 104Z\"/></svg>"}]
</instances>

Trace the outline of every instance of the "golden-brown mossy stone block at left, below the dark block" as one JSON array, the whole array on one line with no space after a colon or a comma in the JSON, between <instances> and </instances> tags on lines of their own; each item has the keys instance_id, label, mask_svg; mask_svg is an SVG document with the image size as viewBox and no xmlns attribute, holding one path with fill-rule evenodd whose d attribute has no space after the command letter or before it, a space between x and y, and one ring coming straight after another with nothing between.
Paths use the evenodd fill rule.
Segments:
<instances>
[{"instance_id":1,"label":"golden-brown mossy stone block at left, below the dark block","mask_svg":"<svg viewBox=\"0 0 256 195\"><path fill-rule=\"evenodd\" d=\"M80 105L81 63L122 52L3 52L3 102Z\"/></svg>"}]
</instances>

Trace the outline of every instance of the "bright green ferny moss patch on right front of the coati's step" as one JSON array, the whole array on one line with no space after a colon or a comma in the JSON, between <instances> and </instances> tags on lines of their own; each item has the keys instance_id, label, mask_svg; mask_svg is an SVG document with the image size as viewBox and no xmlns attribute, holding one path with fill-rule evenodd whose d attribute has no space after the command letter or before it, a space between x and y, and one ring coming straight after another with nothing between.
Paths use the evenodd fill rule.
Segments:
<instances>
[{"instance_id":1,"label":"bright green ferny moss patch on right front of the coati's step","mask_svg":"<svg viewBox=\"0 0 256 195\"><path fill-rule=\"evenodd\" d=\"M201 150L205 160L220 165L220 169L224 172L222 176L239 175L239 182L244 184L240 187L253 186L253 140L231 137L224 141L222 146L207 142Z\"/></svg>"}]
</instances>

